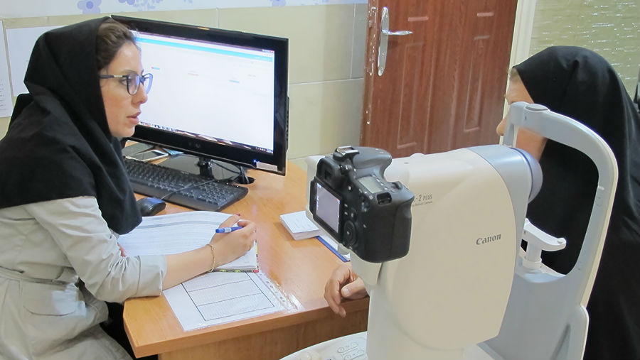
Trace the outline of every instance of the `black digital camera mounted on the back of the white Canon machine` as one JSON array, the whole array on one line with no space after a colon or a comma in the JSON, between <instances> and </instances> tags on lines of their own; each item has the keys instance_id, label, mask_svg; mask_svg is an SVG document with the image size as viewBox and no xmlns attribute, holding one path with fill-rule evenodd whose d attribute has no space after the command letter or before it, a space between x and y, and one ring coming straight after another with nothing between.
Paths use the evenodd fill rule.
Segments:
<instances>
[{"instance_id":1,"label":"black digital camera mounted on the back of the white Canon machine","mask_svg":"<svg viewBox=\"0 0 640 360\"><path fill-rule=\"evenodd\" d=\"M319 160L311 180L314 220L364 261L380 263L409 252L413 193L388 182L391 155L379 148L343 146Z\"/></svg>"}]
</instances>

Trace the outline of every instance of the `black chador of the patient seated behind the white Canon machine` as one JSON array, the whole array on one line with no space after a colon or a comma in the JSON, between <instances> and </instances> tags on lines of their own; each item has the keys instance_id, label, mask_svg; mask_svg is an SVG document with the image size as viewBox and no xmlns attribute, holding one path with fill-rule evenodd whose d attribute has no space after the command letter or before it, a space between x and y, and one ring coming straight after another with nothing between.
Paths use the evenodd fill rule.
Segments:
<instances>
[{"instance_id":1,"label":"black chador of the patient seated behind the white Canon machine","mask_svg":"<svg viewBox=\"0 0 640 360\"><path fill-rule=\"evenodd\" d=\"M640 124L615 70L591 50L557 46L516 65L533 102L580 121L607 142L618 184L602 258L587 305L585 359L640 359ZM540 158L543 186L527 217L567 239L543 262L571 271L585 237L597 184L592 161L548 141Z\"/></svg>"}]
</instances>

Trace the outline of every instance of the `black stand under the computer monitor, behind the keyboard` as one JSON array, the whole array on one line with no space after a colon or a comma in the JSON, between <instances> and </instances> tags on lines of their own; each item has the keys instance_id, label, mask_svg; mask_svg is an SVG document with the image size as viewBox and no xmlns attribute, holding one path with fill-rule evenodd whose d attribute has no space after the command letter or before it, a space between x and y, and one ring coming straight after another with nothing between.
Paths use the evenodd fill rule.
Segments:
<instances>
[{"instance_id":1,"label":"black stand under the computer monitor, behind the keyboard","mask_svg":"<svg viewBox=\"0 0 640 360\"><path fill-rule=\"evenodd\" d=\"M230 180L240 184L253 182L252 178L243 177L244 169L238 165L225 163L220 160L211 160L198 156L192 156L187 154L179 154L170 156L162 163L162 166L172 168L176 170L186 171L196 175L201 175L203 178L210 178L215 180ZM248 180L244 180L247 178Z\"/></svg>"}]
</instances>

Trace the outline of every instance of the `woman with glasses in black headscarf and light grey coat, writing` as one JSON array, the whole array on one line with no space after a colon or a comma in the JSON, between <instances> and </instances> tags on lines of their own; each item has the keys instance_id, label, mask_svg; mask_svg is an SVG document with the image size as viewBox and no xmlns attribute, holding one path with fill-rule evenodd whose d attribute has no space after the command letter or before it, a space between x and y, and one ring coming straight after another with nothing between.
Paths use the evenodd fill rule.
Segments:
<instances>
[{"instance_id":1,"label":"woman with glasses in black headscarf and light grey coat, writing","mask_svg":"<svg viewBox=\"0 0 640 360\"><path fill-rule=\"evenodd\" d=\"M255 224L208 246L127 257L141 221L122 164L153 77L132 33L110 18L43 34L0 140L0 358L129 359L100 327L105 302L161 290L238 258ZM126 341L126 337L125 337Z\"/></svg>"}]
</instances>

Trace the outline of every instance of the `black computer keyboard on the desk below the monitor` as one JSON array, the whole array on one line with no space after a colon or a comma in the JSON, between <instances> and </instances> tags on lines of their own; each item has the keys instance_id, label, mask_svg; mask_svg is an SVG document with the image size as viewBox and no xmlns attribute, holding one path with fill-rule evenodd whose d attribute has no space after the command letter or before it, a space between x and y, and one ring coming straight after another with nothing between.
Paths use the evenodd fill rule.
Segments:
<instances>
[{"instance_id":1,"label":"black computer keyboard on the desk below the monitor","mask_svg":"<svg viewBox=\"0 0 640 360\"><path fill-rule=\"evenodd\" d=\"M129 158L124 158L124 168L134 192L196 210L220 211L249 191L246 187Z\"/></svg>"}]
</instances>

